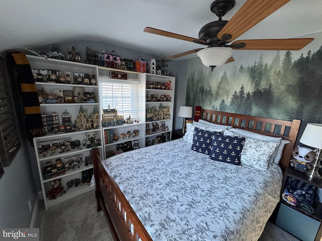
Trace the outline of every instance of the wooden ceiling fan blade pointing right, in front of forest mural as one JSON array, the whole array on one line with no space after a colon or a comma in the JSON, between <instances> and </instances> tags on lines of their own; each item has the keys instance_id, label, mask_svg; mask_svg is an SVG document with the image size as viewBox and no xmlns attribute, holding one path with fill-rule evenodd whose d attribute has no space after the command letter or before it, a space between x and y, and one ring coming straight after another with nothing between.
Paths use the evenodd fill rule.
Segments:
<instances>
[{"instance_id":1,"label":"wooden ceiling fan blade pointing right, in front of forest mural","mask_svg":"<svg viewBox=\"0 0 322 241\"><path fill-rule=\"evenodd\" d=\"M313 38L237 40L231 45L245 43L246 46L244 48L231 48L238 50L300 50L313 40Z\"/></svg>"}]
</instances>

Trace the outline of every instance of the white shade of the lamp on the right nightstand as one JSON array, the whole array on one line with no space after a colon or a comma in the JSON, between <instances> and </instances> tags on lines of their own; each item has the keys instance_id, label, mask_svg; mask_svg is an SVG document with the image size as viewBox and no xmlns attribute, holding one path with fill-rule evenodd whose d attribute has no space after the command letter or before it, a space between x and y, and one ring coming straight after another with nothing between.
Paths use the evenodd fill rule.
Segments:
<instances>
[{"instance_id":1,"label":"white shade of the lamp on the right nightstand","mask_svg":"<svg viewBox=\"0 0 322 241\"><path fill-rule=\"evenodd\" d=\"M300 143L322 149L322 124L308 123L300 139Z\"/></svg>"}]
</instances>

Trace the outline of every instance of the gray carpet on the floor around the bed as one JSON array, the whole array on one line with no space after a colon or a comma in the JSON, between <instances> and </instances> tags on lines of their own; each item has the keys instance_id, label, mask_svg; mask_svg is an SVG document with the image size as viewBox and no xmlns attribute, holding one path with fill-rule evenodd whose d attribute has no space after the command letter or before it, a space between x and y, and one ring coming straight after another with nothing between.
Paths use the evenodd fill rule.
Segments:
<instances>
[{"instance_id":1,"label":"gray carpet on the floor around the bed","mask_svg":"<svg viewBox=\"0 0 322 241\"><path fill-rule=\"evenodd\" d=\"M89 191L45 210L42 203L36 227L41 241L112 241L103 212L96 211L95 192ZM259 241L295 241L293 235L271 222Z\"/></svg>"}]
</instances>

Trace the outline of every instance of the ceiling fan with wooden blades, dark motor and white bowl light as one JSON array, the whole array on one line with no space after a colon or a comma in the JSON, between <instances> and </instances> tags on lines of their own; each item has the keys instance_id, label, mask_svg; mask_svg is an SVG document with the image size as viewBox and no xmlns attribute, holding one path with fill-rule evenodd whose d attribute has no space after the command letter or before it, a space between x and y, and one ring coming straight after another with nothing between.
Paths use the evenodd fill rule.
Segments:
<instances>
[{"instance_id":1,"label":"ceiling fan with wooden blades, dark motor and white bowl light","mask_svg":"<svg viewBox=\"0 0 322 241\"><path fill-rule=\"evenodd\" d=\"M210 67L212 71L215 67L234 61L232 58L232 49L300 50L312 42L313 38L298 38L238 40L230 43L289 1L290 0L247 0L229 21L225 21L222 20L222 17L233 8L235 0L216 0L211 4L210 10L219 18L219 20L204 25L199 31L199 39L150 27L146 27L144 32L208 46L206 48L198 48L173 55L168 58L175 59L197 52L202 63L207 67Z\"/></svg>"}]
</instances>

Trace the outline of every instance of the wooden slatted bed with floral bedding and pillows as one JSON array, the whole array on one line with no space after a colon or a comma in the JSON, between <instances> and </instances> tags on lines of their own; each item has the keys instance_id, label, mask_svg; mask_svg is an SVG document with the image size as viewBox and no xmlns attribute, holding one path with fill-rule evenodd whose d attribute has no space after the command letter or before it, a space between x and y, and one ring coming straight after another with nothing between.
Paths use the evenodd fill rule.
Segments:
<instances>
[{"instance_id":1,"label":"wooden slatted bed with floral bedding and pillows","mask_svg":"<svg viewBox=\"0 0 322 241\"><path fill-rule=\"evenodd\" d=\"M196 106L182 139L106 160L93 149L97 210L115 240L257 240L279 202L299 125ZM206 136L211 151L199 148ZM236 153L243 147L239 163L226 158L224 141Z\"/></svg>"}]
</instances>

